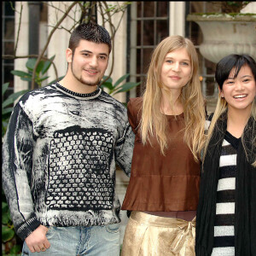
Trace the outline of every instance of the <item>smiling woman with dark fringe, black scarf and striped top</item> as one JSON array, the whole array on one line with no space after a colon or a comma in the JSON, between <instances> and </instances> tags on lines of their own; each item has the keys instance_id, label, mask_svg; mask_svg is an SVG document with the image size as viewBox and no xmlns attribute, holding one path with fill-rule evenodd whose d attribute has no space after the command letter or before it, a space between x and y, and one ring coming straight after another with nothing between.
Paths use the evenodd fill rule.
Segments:
<instances>
[{"instance_id":1,"label":"smiling woman with dark fringe, black scarf and striped top","mask_svg":"<svg viewBox=\"0 0 256 256\"><path fill-rule=\"evenodd\" d=\"M198 256L256 253L256 63L249 55L218 62L219 95L210 116L196 217Z\"/></svg>"}]
</instances>

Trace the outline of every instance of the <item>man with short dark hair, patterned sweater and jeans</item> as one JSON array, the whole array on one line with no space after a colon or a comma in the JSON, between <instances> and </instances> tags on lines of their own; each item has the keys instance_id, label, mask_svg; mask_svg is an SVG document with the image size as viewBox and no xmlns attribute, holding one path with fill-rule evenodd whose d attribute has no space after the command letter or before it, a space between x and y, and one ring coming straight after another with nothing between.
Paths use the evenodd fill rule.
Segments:
<instances>
[{"instance_id":1,"label":"man with short dark hair, patterned sweater and jeans","mask_svg":"<svg viewBox=\"0 0 256 256\"><path fill-rule=\"evenodd\" d=\"M110 51L102 26L78 26L66 76L15 105L3 189L23 255L119 255L115 163L130 176L134 133L126 108L98 86Z\"/></svg>"}]
</instances>

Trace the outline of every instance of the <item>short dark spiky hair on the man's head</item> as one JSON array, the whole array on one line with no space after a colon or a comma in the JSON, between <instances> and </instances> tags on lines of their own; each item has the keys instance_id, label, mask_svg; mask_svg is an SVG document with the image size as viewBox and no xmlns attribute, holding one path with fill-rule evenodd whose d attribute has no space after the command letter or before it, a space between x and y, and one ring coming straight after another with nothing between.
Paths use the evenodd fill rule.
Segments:
<instances>
[{"instance_id":1,"label":"short dark spiky hair on the man's head","mask_svg":"<svg viewBox=\"0 0 256 256\"><path fill-rule=\"evenodd\" d=\"M111 38L108 31L98 24L83 23L77 26L71 34L69 39L68 48L72 49L73 53L79 46L81 39L96 43L108 44L109 53L112 49Z\"/></svg>"}]
</instances>

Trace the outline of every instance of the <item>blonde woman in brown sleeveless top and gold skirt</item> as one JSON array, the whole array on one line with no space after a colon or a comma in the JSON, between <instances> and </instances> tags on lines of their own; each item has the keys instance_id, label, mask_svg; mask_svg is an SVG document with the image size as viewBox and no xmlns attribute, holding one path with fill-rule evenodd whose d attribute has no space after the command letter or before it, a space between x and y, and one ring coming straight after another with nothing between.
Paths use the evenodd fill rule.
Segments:
<instances>
[{"instance_id":1,"label":"blonde woman in brown sleeveless top and gold skirt","mask_svg":"<svg viewBox=\"0 0 256 256\"><path fill-rule=\"evenodd\" d=\"M146 90L128 102L128 117L136 138L122 255L195 255L205 108L188 38L171 36L154 49Z\"/></svg>"}]
</instances>

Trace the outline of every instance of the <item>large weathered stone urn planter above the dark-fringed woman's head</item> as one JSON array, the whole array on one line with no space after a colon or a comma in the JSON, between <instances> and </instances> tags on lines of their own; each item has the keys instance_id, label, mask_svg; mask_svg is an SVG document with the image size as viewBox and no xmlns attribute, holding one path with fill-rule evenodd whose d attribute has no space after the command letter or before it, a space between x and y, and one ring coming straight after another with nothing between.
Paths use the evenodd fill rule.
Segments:
<instances>
[{"instance_id":1,"label":"large weathered stone urn planter above the dark-fringed woman's head","mask_svg":"<svg viewBox=\"0 0 256 256\"><path fill-rule=\"evenodd\" d=\"M219 12L187 16L201 28L203 42L199 49L207 60L217 63L230 54L248 54L256 59L256 14L240 12L248 3L212 2Z\"/></svg>"}]
</instances>

